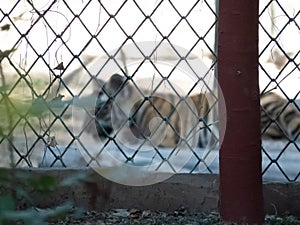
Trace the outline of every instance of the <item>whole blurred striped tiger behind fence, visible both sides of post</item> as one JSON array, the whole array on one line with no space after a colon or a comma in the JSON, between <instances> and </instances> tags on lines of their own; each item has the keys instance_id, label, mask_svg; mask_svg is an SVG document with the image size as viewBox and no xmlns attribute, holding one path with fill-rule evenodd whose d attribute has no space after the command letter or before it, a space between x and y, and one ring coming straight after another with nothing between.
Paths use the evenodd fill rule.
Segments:
<instances>
[{"instance_id":1,"label":"whole blurred striped tiger behind fence, visible both sides of post","mask_svg":"<svg viewBox=\"0 0 300 225\"><path fill-rule=\"evenodd\" d=\"M167 93L151 96L150 92L144 91L145 96L142 96L129 81L118 74L107 82L101 81L95 105L96 130L101 140L113 140L122 133L118 133L118 129L128 123L129 130L125 133L131 133L139 140L148 140L157 147L174 147L193 131L187 140L196 143L197 147L218 144L218 131L211 126L217 123L212 115L216 111L212 110L209 94L198 93L182 98ZM296 140L299 137L299 109L275 92L262 94L260 103L263 139ZM184 118L179 118L179 114ZM156 121L157 118L160 120ZM167 126L160 128L159 124ZM127 136L127 139L130 138Z\"/></svg>"}]
</instances>

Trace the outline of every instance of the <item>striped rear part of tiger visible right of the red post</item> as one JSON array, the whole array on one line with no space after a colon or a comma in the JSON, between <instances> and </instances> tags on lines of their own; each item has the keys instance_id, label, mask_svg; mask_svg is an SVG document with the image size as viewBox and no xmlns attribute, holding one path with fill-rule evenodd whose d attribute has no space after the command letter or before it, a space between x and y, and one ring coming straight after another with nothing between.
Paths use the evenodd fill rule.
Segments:
<instances>
[{"instance_id":1,"label":"striped rear part of tiger visible right of the red post","mask_svg":"<svg viewBox=\"0 0 300 225\"><path fill-rule=\"evenodd\" d=\"M263 94L261 132L264 138L297 140L300 135L300 111L275 92Z\"/></svg>"}]
</instances>

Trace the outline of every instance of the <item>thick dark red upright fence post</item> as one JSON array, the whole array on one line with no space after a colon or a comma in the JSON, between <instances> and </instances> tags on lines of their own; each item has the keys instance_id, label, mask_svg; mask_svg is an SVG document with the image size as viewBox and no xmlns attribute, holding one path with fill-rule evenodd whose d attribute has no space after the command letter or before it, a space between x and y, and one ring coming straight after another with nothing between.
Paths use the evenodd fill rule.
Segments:
<instances>
[{"instance_id":1,"label":"thick dark red upright fence post","mask_svg":"<svg viewBox=\"0 0 300 225\"><path fill-rule=\"evenodd\" d=\"M258 0L220 0L218 81L227 110L221 101L221 218L262 224Z\"/></svg>"}]
</instances>

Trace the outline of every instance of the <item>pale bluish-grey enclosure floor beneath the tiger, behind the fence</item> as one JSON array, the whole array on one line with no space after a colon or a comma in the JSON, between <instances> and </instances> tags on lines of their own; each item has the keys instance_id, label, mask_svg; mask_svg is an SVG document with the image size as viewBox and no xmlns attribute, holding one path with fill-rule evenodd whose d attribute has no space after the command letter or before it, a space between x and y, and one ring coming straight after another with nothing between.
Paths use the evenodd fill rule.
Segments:
<instances>
[{"instance_id":1,"label":"pale bluish-grey enclosure floor beneath the tiger, behind the fence","mask_svg":"<svg viewBox=\"0 0 300 225\"><path fill-rule=\"evenodd\" d=\"M283 141L273 141L273 140L264 140L263 141L262 152L262 171L263 179L265 181L282 181L286 182L299 181L300 173L300 153L298 148L293 145L287 145ZM114 167L120 166L126 162L126 156L130 157L134 154L134 149L124 148L122 149L123 153L115 145L108 145L107 150L102 151L98 159L101 167ZM284 149L284 150L282 150ZM90 155L95 155L99 153L99 148L96 146L88 146L87 150ZM63 148L59 146L53 148L53 152L56 155L60 155L64 152ZM155 151L143 151L134 156L134 161L131 164L137 166L147 166L162 161L161 157L167 157L172 152L171 149L164 149L160 151L161 156ZM218 159L218 150L212 150L208 152L205 149L198 148L194 150L194 153L189 155L189 158L185 162L182 162L182 158L174 156L172 158L172 166L175 168L180 168L180 173L219 173L219 159ZM176 155L176 152L173 153ZM80 149L80 147L71 147L68 151L62 156L62 161L55 161L55 156L50 151L46 152L41 159L42 167L70 167L70 168L80 168L85 167L88 164L90 155ZM199 163L199 158L204 158L205 163ZM275 160L275 161L274 161ZM53 164L53 162L55 162ZM206 167L208 166L208 167ZM154 167L151 167L152 169ZM172 172L171 167L167 164L164 167L159 167L161 172Z\"/></svg>"}]
</instances>

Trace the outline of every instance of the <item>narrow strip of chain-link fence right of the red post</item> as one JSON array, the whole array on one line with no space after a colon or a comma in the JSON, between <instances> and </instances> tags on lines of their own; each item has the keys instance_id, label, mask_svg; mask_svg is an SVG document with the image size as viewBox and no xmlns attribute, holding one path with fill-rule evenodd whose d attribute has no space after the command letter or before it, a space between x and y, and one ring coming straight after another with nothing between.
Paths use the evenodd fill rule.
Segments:
<instances>
[{"instance_id":1,"label":"narrow strip of chain-link fence right of the red post","mask_svg":"<svg viewBox=\"0 0 300 225\"><path fill-rule=\"evenodd\" d=\"M263 143L262 152L265 158L263 173L267 175L271 169L277 170L278 176L288 181L299 179L299 133L289 136L280 117L290 107L297 111L299 117L299 4L284 1L260 1L260 89L262 95L275 91L284 99L277 115L269 115L270 122L262 131L276 127L285 135L286 140L274 145ZM295 85L296 84L296 85ZM262 108L263 110L263 108ZM275 111L275 110L274 110ZM297 123L295 121L294 123ZM287 158L293 158L286 163ZM295 168L291 170L289 168Z\"/></svg>"}]
</instances>

